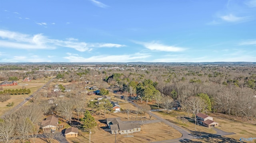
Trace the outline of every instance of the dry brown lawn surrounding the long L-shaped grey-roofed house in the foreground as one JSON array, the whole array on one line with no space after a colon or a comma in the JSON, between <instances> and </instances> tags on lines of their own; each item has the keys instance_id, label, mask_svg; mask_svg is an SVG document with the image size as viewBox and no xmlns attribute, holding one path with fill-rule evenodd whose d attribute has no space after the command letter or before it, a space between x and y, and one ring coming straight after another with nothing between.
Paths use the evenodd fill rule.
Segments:
<instances>
[{"instance_id":1,"label":"dry brown lawn surrounding the long L-shaped grey-roofed house in the foreground","mask_svg":"<svg viewBox=\"0 0 256 143\"><path fill-rule=\"evenodd\" d=\"M104 131L100 126L106 126L98 122L98 126L92 129L91 141L93 143L114 143L115 135ZM154 128L154 130L152 130ZM151 123L141 126L141 131L127 135L116 134L118 143L148 143L151 141L162 141L167 139L175 139L181 137L181 133L174 131L172 127L164 123ZM89 143L89 134L81 132L77 138L69 138L70 143Z\"/></svg>"}]
</instances>

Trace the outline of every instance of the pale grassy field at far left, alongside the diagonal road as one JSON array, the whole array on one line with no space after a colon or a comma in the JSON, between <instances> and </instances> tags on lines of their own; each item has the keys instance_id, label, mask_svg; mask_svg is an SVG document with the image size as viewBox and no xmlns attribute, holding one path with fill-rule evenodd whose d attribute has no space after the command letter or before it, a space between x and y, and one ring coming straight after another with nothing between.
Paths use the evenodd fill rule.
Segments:
<instances>
[{"instance_id":1,"label":"pale grassy field at far left, alongside the diagonal road","mask_svg":"<svg viewBox=\"0 0 256 143\"><path fill-rule=\"evenodd\" d=\"M5 112L10 110L11 108L15 107L17 104L20 104L25 98L29 97L33 94L36 90L42 87L46 82L48 82L50 78L42 78L37 80L32 80L30 82L22 82L18 81L18 85L16 86L2 86L3 90L5 89L20 89L20 88L27 88L30 89L30 94L21 94L21 95L11 95L11 98L6 102L0 102L0 116L2 116ZM2 82L2 81L0 81ZM6 107L6 104L14 102L14 106Z\"/></svg>"}]
</instances>

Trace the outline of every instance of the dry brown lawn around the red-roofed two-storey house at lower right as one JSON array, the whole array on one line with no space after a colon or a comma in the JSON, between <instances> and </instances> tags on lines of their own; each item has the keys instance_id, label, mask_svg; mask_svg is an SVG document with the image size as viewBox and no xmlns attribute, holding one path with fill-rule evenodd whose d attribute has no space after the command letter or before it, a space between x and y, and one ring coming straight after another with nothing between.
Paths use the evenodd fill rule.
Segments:
<instances>
[{"instance_id":1,"label":"dry brown lawn around the red-roofed two-storey house at lower right","mask_svg":"<svg viewBox=\"0 0 256 143\"><path fill-rule=\"evenodd\" d=\"M194 121L187 122L187 125L182 124L182 121L177 120L178 116L187 117L185 112L181 111L171 111L169 114L164 114L164 112L153 112L154 114L167 119L188 131L195 130ZM190 115L191 116L191 115ZM213 120L218 122L221 127L217 127L218 129L226 132L234 132L234 135L225 135L222 137L211 138L211 139L192 139L192 141L198 141L199 143L209 143L209 142L240 142L240 137L249 138L256 137L256 121L247 121L246 119L242 119L236 116L226 115L226 114L209 114L209 116L213 117ZM201 131L202 133L216 133L212 128L203 127L201 125L196 126L197 131ZM254 140L256 141L256 139ZM246 142L246 141L245 141Z\"/></svg>"}]
</instances>

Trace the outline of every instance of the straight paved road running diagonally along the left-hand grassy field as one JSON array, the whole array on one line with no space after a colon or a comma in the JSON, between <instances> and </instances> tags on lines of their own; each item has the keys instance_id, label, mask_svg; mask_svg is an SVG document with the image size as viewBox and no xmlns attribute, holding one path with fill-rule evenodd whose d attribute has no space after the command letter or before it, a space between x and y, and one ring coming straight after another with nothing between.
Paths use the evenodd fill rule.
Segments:
<instances>
[{"instance_id":1,"label":"straight paved road running diagonally along the left-hand grassy field","mask_svg":"<svg viewBox=\"0 0 256 143\"><path fill-rule=\"evenodd\" d=\"M36 92L39 92L42 88L44 88L47 84L50 84L50 82L52 82L52 80L54 80L54 78L52 78L50 81L48 81L46 84L44 84L41 88L39 88L38 90L36 90ZM34 93L36 93L34 92ZM17 111L20 107L22 107L26 102L28 102L33 96L34 93L31 94L28 98L25 98L22 102L20 102L20 104L16 105L14 108L12 108L11 110L9 110L8 112L6 112L4 115L2 115L0 118L4 119L7 115L12 114L13 112Z\"/></svg>"}]
</instances>

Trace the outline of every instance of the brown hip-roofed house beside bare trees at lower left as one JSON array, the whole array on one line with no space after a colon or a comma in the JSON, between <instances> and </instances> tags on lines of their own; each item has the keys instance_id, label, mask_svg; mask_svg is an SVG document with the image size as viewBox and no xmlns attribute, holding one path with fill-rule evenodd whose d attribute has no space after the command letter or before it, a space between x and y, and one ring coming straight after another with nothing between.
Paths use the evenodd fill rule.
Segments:
<instances>
[{"instance_id":1,"label":"brown hip-roofed house beside bare trees at lower left","mask_svg":"<svg viewBox=\"0 0 256 143\"><path fill-rule=\"evenodd\" d=\"M55 116L50 116L42 121L42 129L44 133L54 132L57 129L58 118Z\"/></svg>"}]
</instances>

